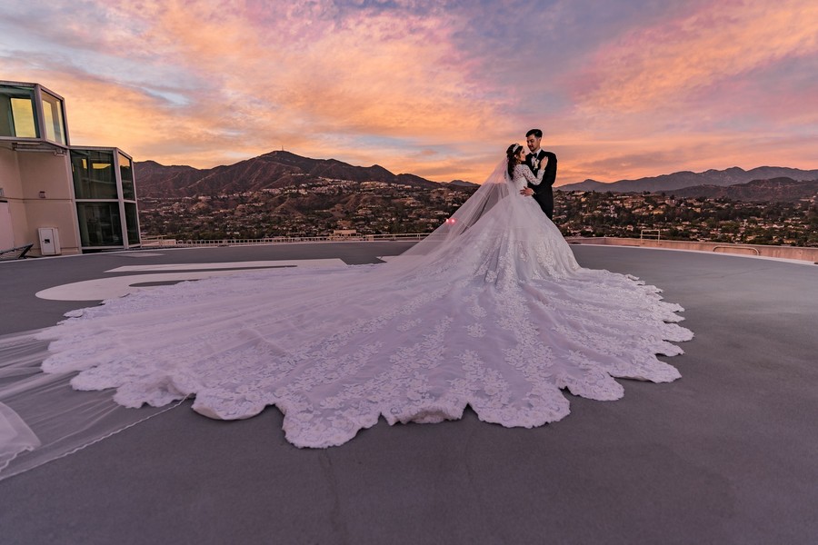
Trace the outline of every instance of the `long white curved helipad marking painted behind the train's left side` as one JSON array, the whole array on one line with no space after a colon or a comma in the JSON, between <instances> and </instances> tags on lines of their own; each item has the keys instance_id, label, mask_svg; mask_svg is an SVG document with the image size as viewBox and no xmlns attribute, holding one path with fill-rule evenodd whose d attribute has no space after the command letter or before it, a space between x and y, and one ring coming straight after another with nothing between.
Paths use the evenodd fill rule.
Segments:
<instances>
[{"instance_id":1,"label":"long white curved helipad marking painted behind the train's left side","mask_svg":"<svg viewBox=\"0 0 818 545\"><path fill-rule=\"evenodd\" d=\"M145 286L147 282L182 282L185 280L201 280L212 276L226 276L240 272L251 272L247 270L246 263L264 263L256 265L254 268L272 267L315 267L329 265L344 265L340 259L304 259L300 261L283 260L277 262L234 262L234 263L178 263L175 265L137 265L135 267L119 267L106 272L136 272L136 271L180 271L180 272L155 272L152 274L128 274L126 276L109 276L107 278L95 278L82 282L71 282L47 288L35 295L40 299L50 301L103 301L122 297L128 293L141 290L154 289L156 286ZM148 267L148 268L145 268ZM152 269L150 267L162 267ZM236 269L235 267L243 267ZM198 269L196 271L195 269ZM201 269L220 269L202 271Z\"/></svg>"}]
</instances>

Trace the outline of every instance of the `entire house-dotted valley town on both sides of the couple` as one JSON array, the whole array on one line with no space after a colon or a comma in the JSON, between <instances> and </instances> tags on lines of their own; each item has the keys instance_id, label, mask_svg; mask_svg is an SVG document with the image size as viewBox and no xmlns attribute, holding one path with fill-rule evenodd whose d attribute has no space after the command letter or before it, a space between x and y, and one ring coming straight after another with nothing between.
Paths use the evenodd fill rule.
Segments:
<instances>
[{"instance_id":1,"label":"entire house-dotted valley town on both sides of the couple","mask_svg":"<svg viewBox=\"0 0 818 545\"><path fill-rule=\"evenodd\" d=\"M287 187L240 193L140 198L147 236L180 240L430 233L474 193L304 177ZM565 236L657 238L818 246L815 197L745 202L661 193L556 191L554 223Z\"/></svg>"}]
</instances>

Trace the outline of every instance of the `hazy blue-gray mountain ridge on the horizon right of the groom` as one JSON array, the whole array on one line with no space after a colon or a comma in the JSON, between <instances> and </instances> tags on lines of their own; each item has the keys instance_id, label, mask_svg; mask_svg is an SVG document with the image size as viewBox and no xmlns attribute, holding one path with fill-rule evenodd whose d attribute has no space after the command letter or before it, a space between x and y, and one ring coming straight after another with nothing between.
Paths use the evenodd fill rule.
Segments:
<instances>
[{"instance_id":1,"label":"hazy blue-gray mountain ridge on the horizon right of the groom","mask_svg":"<svg viewBox=\"0 0 818 545\"><path fill-rule=\"evenodd\" d=\"M559 191L612 191L614 193L632 192L667 192L683 187L696 185L715 185L724 187L736 183L748 183L753 180L772 180L774 178L791 178L793 180L816 180L818 170L801 170L797 168L787 168L781 166L759 166L748 171L737 166L723 171L708 170L703 173L693 173L683 171L672 174L662 174L661 176L649 176L637 180L620 180L612 183L602 183L596 180L585 180L580 183L568 183L554 187Z\"/></svg>"}]
</instances>

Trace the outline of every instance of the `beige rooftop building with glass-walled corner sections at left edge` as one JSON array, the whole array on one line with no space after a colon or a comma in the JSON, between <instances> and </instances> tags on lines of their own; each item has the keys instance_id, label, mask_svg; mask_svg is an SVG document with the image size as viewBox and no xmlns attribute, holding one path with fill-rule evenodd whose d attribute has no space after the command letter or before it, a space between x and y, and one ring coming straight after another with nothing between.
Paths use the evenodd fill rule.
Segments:
<instances>
[{"instance_id":1,"label":"beige rooftop building with glass-walled corner sections at left edge","mask_svg":"<svg viewBox=\"0 0 818 545\"><path fill-rule=\"evenodd\" d=\"M139 246L134 160L71 145L62 96L0 81L0 250L26 243L43 255Z\"/></svg>"}]
</instances>

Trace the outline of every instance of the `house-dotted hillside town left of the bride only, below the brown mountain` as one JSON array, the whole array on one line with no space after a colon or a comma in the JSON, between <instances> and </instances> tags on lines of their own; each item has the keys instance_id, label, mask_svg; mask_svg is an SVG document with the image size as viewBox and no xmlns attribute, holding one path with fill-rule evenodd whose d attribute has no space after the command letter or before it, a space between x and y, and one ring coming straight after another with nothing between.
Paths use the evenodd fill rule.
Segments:
<instances>
[{"instance_id":1,"label":"house-dotted hillside town left of the bride only, below the brown mountain","mask_svg":"<svg viewBox=\"0 0 818 545\"><path fill-rule=\"evenodd\" d=\"M475 186L428 189L324 179L284 188L197 197L140 199L142 232L187 240L430 233Z\"/></svg>"}]
</instances>

